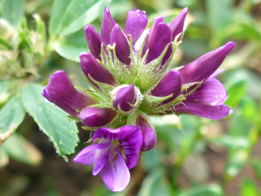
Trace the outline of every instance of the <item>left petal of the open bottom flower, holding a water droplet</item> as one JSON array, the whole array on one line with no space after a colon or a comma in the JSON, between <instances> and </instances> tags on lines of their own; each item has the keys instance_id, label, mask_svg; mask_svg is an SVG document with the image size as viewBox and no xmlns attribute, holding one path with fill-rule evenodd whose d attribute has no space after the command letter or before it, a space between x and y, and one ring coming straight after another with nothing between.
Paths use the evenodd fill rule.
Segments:
<instances>
[{"instance_id":1,"label":"left petal of the open bottom flower, holding a water droplet","mask_svg":"<svg viewBox=\"0 0 261 196\"><path fill-rule=\"evenodd\" d=\"M98 149L106 149L111 143L98 143L92 144L81 150L79 154L73 159L74 162L81 163L83 165L90 165L93 163L95 158L95 153Z\"/></svg>"}]
</instances>

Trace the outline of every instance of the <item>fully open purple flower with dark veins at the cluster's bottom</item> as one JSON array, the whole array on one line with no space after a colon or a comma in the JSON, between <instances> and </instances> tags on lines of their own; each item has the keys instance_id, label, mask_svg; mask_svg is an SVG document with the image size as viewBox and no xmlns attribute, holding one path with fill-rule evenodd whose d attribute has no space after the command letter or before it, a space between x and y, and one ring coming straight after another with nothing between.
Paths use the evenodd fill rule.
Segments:
<instances>
[{"instance_id":1,"label":"fully open purple flower with dark veins at the cluster's bottom","mask_svg":"<svg viewBox=\"0 0 261 196\"><path fill-rule=\"evenodd\" d=\"M125 125L117 129L99 128L92 138L92 143L73 159L83 165L93 163L93 175L102 177L112 191L122 191L130 181L129 169L138 161L142 145L140 128Z\"/></svg>"}]
</instances>

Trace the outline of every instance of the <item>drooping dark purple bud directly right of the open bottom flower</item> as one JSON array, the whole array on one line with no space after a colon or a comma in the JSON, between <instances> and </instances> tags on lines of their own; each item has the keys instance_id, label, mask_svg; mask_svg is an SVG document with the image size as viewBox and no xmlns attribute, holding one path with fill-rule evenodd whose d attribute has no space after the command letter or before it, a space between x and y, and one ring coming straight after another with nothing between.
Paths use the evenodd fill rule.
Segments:
<instances>
[{"instance_id":1,"label":"drooping dark purple bud directly right of the open bottom flower","mask_svg":"<svg viewBox=\"0 0 261 196\"><path fill-rule=\"evenodd\" d=\"M157 136L154 127L152 127L146 118L138 116L136 123L142 131L141 151L148 151L154 148L157 143Z\"/></svg>"}]
</instances>

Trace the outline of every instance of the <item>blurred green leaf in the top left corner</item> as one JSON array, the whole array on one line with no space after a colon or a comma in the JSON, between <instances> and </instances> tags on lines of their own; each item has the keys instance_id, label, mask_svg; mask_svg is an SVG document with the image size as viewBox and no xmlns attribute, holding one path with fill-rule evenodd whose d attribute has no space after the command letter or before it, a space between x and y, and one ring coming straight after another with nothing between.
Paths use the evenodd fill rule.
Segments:
<instances>
[{"instance_id":1,"label":"blurred green leaf in the top left corner","mask_svg":"<svg viewBox=\"0 0 261 196\"><path fill-rule=\"evenodd\" d=\"M3 0L2 15L11 25L19 26L19 22L24 13L23 0Z\"/></svg>"}]
</instances>

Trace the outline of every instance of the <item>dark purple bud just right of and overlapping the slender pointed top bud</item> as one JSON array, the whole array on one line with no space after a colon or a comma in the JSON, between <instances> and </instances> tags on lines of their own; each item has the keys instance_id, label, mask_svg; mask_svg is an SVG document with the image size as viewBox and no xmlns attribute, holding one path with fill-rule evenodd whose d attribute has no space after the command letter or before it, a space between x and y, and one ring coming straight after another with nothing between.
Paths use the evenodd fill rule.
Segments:
<instances>
[{"instance_id":1,"label":"dark purple bud just right of and overlapping the slender pointed top bud","mask_svg":"<svg viewBox=\"0 0 261 196\"><path fill-rule=\"evenodd\" d=\"M131 62L130 47L126 37L122 33L122 30L118 24L115 24L115 26L111 30L110 45L113 44L116 44L115 51L118 59L122 63L129 65Z\"/></svg>"}]
</instances>

